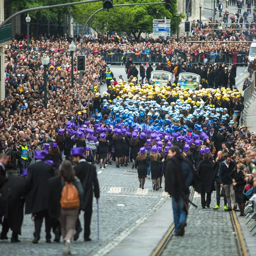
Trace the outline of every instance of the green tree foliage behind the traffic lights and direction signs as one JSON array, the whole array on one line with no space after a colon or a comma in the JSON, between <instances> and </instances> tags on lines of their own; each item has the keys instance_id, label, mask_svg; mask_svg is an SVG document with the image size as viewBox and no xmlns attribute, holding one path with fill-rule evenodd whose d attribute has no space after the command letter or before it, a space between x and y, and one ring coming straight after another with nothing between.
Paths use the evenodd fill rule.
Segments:
<instances>
[{"instance_id":1,"label":"green tree foliage behind the traffic lights and direction signs","mask_svg":"<svg viewBox=\"0 0 256 256\"><path fill-rule=\"evenodd\" d=\"M161 0L114 0L113 4L158 3L160 1ZM171 20L171 31L175 32L177 30L177 17L175 16L177 1L172 1L172 8L170 10L165 9L164 2L165 1L160 5L113 7L109 12L102 10L92 18L89 25L96 31L124 31L133 33L135 37L137 35L137 38L139 38L142 32L151 33L153 31L153 19L166 17ZM71 9L71 14L78 23L85 24L90 15L102 7L102 2L74 6ZM179 22L182 18L183 15L180 15Z\"/></svg>"}]
</instances>

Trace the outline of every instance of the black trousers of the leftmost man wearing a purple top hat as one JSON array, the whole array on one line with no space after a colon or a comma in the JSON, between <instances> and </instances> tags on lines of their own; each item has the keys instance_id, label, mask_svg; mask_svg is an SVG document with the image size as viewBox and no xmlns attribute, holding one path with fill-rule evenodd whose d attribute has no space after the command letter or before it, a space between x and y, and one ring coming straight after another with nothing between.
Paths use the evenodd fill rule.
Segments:
<instances>
[{"instance_id":1,"label":"black trousers of the leftmost man wearing a purple top hat","mask_svg":"<svg viewBox=\"0 0 256 256\"><path fill-rule=\"evenodd\" d=\"M41 227L43 223L43 219L45 220L45 232L46 232L46 239L51 239L51 227L52 221L48 216L48 210L43 210L37 212L35 214L35 232L34 237L35 239L40 239Z\"/></svg>"}]
</instances>

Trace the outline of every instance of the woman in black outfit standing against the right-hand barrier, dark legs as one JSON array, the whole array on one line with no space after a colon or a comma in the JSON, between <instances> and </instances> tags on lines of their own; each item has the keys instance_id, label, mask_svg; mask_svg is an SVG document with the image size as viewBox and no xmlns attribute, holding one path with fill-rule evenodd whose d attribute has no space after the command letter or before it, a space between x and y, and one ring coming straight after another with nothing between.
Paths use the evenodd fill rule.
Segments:
<instances>
[{"instance_id":1,"label":"woman in black outfit standing against the right-hand barrier, dark legs","mask_svg":"<svg viewBox=\"0 0 256 256\"><path fill-rule=\"evenodd\" d=\"M230 177L233 178L233 187L235 191L235 197L236 197L236 203L238 203L238 207L240 210L239 216L245 216L244 214L244 206L245 202L247 201L246 196L244 195L244 186L246 184L246 181L244 180L244 174L243 169L246 166L238 160L236 161L235 169L230 173Z\"/></svg>"}]
</instances>

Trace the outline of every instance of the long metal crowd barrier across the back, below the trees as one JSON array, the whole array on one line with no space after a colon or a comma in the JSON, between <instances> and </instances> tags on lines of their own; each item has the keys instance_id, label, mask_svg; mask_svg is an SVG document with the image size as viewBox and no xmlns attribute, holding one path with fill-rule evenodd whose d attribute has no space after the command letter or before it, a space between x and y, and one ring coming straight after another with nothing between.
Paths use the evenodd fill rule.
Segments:
<instances>
[{"instance_id":1,"label":"long metal crowd barrier across the back, below the trees","mask_svg":"<svg viewBox=\"0 0 256 256\"><path fill-rule=\"evenodd\" d=\"M101 55L102 58L111 65L125 65L126 61L129 58L135 63L139 65L140 63L161 63L165 64L167 59L172 63L176 63L179 61L180 63L186 62L190 64L209 64L209 63L217 63L217 64L231 64L234 63L236 65L247 65L248 55L247 54L233 54L233 53L135 53L135 52L125 52L125 53L114 53L114 52L88 52L93 55Z\"/></svg>"}]
</instances>

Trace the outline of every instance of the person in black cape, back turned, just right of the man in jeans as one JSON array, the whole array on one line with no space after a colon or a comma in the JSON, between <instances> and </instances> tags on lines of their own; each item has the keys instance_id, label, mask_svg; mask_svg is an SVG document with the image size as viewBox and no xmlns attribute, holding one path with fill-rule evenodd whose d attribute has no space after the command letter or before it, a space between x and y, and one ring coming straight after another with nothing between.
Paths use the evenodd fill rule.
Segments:
<instances>
[{"instance_id":1,"label":"person in black cape, back turned, just right of the man in jeans","mask_svg":"<svg viewBox=\"0 0 256 256\"><path fill-rule=\"evenodd\" d=\"M212 161L209 160L209 154L204 153L202 161L198 163L196 168L196 172L198 176L201 178L202 186L201 186L201 204L202 208L205 209L205 205L207 208L210 208L211 204L211 194L212 194L212 185L214 180L214 173L212 171ZM207 194L207 198L205 201L205 193Z\"/></svg>"}]
</instances>

